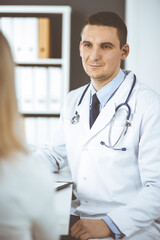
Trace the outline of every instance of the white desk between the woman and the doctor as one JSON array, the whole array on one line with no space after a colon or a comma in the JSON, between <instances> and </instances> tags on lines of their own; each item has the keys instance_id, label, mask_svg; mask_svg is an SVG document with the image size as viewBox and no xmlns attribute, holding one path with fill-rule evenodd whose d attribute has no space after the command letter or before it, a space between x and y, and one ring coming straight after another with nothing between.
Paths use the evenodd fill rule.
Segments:
<instances>
[{"instance_id":1,"label":"white desk between the woman and the doctor","mask_svg":"<svg viewBox=\"0 0 160 240\"><path fill-rule=\"evenodd\" d=\"M62 169L56 174L57 181L72 181L71 174L68 168ZM69 230L69 218L72 200L72 184L55 193L56 212L59 225L60 235L67 235Z\"/></svg>"}]
</instances>

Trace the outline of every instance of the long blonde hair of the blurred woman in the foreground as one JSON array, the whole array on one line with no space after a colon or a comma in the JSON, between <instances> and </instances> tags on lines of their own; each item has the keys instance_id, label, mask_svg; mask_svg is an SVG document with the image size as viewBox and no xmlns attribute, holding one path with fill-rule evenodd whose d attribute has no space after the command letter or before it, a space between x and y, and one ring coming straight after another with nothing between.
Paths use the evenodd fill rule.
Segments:
<instances>
[{"instance_id":1,"label":"long blonde hair of the blurred woman in the foreground","mask_svg":"<svg viewBox=\"0 0 160 240\"><path fill-rule=\"evenodd\" d=\"M10 46L0 32L0 158L27 153L22 139L14 85L14 61ZM19 129L18 129L19 128Z\"/></svg>"}]
</instances>

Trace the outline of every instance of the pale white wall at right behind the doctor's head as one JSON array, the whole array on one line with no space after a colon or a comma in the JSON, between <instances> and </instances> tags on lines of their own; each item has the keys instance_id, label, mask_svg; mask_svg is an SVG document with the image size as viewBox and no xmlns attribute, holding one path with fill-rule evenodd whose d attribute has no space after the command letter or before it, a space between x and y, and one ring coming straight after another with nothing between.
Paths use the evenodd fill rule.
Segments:
<instances>
[{"instance_id":1,"label":"pale white wall at right behind the doctor's head","mask_svg":"<svg viewBox=\"0 0 160 240\"><path fill-rule=\"evenodd\" d=\"M126 0L130 54L125 68L160 93L160 0Z\"/></svg>"}]
</instances>

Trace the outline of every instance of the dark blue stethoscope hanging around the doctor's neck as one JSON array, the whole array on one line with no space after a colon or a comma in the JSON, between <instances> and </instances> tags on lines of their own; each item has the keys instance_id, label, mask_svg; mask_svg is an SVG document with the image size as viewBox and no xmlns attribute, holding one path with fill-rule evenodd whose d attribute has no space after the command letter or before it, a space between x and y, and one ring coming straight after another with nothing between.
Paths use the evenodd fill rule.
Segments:
<instances>
[{"instance_id":1,"label":"dark blue stethoscope hanging around the doctor's neck","mask_svg":"<svg viewBox=\"0 0 160 240\"><path fill-rule=\"evenodd\" d=\"M126 98L126 101L124 103L121 103L119 104L116 109L115 109L115 114L113 115L111 121L110 121L110 128L109 128L109 134L108 134L108 145L104 142L104 141L101 141L100 144L103 145L103 146L106 146L107 148L111 148L113 150L121 150L121 151L126 151L126 147L122 147L122 148L116 148L116 145L120 142L122 136L126 135L127 133L127 130L128 130L128 127L131 125L130 122L129 122L129 119L131 117L131 107L129 106L128 104L128 101L130 99L130 96L132 94L132 91L134 89L134 86L135 86L135 83L136 83L136 76L134 75L134 79L133 79L133 83L132 83L132 86L131 86L131 89L128 93L128 96ZM90 83L87 85L87 87L85 88L84 92L82 93L82 96L78 102L78 105L79 106L88 90L90 86ZM118 139L115 141L114 144L111 143L111 135L112 135L112 129L113 129L113 123L114 123L114 119L116 118L116 113L117 111L122 108L122 107L126 107L127 108L127 116L126 116L126 122L124 124L124 128L120 134L120 136L118 137ZM78 111L75 112L74 116L72 117L71 119L71 123L72 124L77 124L78 122L80 121L80 115L78 113Z\"/></svg>"}]
</instances>

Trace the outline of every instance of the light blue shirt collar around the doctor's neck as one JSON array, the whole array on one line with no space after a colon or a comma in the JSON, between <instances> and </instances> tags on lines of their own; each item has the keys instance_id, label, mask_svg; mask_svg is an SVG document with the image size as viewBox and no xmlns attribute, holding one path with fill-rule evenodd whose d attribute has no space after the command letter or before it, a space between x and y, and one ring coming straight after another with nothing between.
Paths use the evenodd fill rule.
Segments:
<instances>
[{"instance_id":1,"label":"light blue shirt collar around the doctor's neck","mask_svg":"<svg viewBox=\"0 0 160 240\"><path fill-rule=\"evenodd\" d=\"M122 71L122 69L120 69L118 74L112 79L112 81L106 84L98 92L96 92L93 85L91 84L91 96L93 96L96 93L100 101L101 107L103 108L106 105L106 103L110 100L110 98L118 90L124 78L125 78L125 73Z\"/></svg>"}]
</instances>

